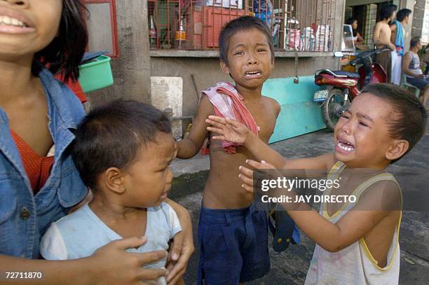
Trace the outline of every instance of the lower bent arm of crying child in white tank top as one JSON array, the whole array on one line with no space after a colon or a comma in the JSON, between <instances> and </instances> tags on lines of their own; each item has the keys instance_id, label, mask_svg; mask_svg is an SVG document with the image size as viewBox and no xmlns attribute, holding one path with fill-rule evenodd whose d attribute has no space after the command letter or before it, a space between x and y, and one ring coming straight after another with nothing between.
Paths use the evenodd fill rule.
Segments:
<instances>
[{"instance_id":1,"label":"lower bent arm of crying child in white tank top","mask_svg":"<svg viewBox=\"0 0 429 285\"><path fill-rule=\"evenodd\" d=\"M267 162L249 160L247 163L254 169L274 168ZM244 183L243 188L253 192L253 171L247 167L240 167L240 172L240 179ZM377 182L367 188L353 210L348 211L336 223L320 216L306 203L295 203L297 194L294 190L275 189L274 193L291 197L292 202L282 203L282 207L308 237L329 252L341 251L357 242L383 218L395 214L393 209L400 209L400 190L390 181Z\"/></svg>"}]
</instances>

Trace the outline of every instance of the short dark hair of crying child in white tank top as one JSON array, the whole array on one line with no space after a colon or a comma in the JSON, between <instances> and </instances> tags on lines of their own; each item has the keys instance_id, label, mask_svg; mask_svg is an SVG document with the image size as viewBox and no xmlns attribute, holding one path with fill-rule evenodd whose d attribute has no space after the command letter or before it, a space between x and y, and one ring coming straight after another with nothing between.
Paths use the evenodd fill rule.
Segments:
<instances>
[{"instance_id":1,"label":"short dark hair of crying child in white tank top","mask_svg":"<svg viewBox=\"0 0 429 285\"><path fill-rule=\"evenodd\" d=\"M388 134L395 139L408 141L409 148L404 155L409 153L425 134L428 114L423 104L409 90L394 84L370 84L362 90L362 93L371 93L392 106L395 114L388 118ZM397 160L400 158L390 163Z\"/></svg>"}]
</instances>

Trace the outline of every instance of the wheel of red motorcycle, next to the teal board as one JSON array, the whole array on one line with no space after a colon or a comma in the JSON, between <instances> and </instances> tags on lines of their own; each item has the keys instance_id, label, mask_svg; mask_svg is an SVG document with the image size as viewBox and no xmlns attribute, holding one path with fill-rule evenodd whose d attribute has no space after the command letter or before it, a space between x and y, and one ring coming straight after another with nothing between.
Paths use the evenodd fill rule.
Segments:
<instances>
[{"instance_id":1,"label":"wheel of red motorcycle, next to the teal board","mask_svg":"<svg viewBox=\"0 0 429 285\"><path fill-rule=\"evenodd\" d=\"M334 88L329 91L326 101L322 104L323 122L329 130L334 130L336 123L348 106L350 106L350 95L347 100L344 100L343 90Z\"/></svg>"}]
</instances>

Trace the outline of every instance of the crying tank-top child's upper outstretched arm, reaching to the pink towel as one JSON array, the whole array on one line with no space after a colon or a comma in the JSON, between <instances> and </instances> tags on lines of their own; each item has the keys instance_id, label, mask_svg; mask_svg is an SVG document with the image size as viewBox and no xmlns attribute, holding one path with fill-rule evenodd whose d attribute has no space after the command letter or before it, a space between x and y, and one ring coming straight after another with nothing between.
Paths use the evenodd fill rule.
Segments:
<instances>
[{"instance_id":1,"label":"crying tank-top child's upper outstretched arm, reaching to the pink towel","mask_svg":"<svg viewBox=\"0 0 429 285\"><path fill-rule=\"evenodd\" d=\"M321 155L316 158L285 160L280 153L273 150L256 134L250 132L245 125L236 120L209 116L206 122L211 125L211 127L207 127L207 130L218 134L212 139L243 144L257 160L268 161L278 169L327 169L327 165L333 161L332 154Z\"/></svg>"}]
</instances>

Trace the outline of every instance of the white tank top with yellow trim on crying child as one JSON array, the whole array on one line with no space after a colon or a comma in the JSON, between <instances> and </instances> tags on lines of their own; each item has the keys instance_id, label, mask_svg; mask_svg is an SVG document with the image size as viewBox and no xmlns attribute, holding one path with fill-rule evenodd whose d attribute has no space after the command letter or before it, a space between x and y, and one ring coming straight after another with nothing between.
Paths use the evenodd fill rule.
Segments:
<instances>
[{"instance_id":1,"label":"white tank top with yellow trim on crying child","mask_svg":"<svg viewBox=\"0 0 429 285\"><path fill-rule=\"evenodd\" d=\"M330 179L336 179L339 174L346 168L343 162L336 162L329 172ZM328 176L328 177L329 177ZM329 178L328 178L329 179ZM357 186L353 195L356 200L360 195L372 184L377 181L394 181L397 183L392 174L379 174L368 179L364 183ZM398 185L399 186L399 185ZM325 195L329 195L330 190L327 190ZM402 197L401 197L402 199ZM401 201L402 205L402 201ZM329 216L326 203L320 205L320 214L327 218L332 223L336 223L345 215L354 204L344 204L339 211ZM402 206L401 206L402 207ZM323 284L323 285L392 285L399 283L400 272L400 245L399 245L399 228L400 220L396 226L395 234L393 235L392 243L388 251L388 259L386 267L379 267L377 261L369 252L365 239L362 237L357 242L341 251L331 253L325 251L318 244L315 246L313 258L311 258L310 267L308 268L306 285Z\"/></svg>"}]
</instances>

